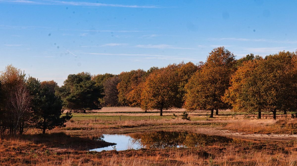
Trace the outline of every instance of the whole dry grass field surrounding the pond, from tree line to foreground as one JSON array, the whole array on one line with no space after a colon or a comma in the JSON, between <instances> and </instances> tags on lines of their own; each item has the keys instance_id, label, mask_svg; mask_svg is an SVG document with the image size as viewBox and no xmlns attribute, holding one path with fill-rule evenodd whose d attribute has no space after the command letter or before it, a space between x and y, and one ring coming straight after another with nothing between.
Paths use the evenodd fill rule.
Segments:
<instances>
[{"instance_id":1,"label":"whole dry grass field surrounding the pond, from tree line to foreground","mask_svg":"<svg viewBox=\"0 0 297 166\"><path fill-rule=\"evenodd\" d=\"M297 120L290 115L257 115L219 111L190 112L191 121L182 120L184 110L157 110L144 113L139 108L110 107L96 113L73 114L66 127L38 134L32 130L19 137L0 141L0 165L297 165ZM173 113L177 116L173 116ZM120 119L121 117L121 119ZM90 152L88 149L112 145L91 138L100 134L141 131L191 131L228 136L231 143L194 148L140 149Z\"/></svg>"}]
</instances>

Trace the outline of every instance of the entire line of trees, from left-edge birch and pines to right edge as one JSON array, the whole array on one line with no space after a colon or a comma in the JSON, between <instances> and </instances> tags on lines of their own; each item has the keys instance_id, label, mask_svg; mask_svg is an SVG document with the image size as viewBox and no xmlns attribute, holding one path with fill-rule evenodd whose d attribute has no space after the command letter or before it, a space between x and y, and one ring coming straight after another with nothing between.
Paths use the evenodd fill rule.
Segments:
<instances>
[{"instance_id":1,"label":"entire line of trees, from left-edge birch and pines to right edge","mask_svg":"<svg viewBox=\"0 0 297 166\"><path fill-rule=\"evenodd\" d=\"M296 52L280 51L263 57L248 54L236 59L224 47L214 48L205 62L169 64L91 75L69 74L64 85L40 82L8 65L0 75L0 134L22 134L30 128L45 133L64 126L75 113L105 106L147 110L185 108L188 111L296 113ZM64 109L69 110L62 115Z\"/></svg>"}]
</instances>

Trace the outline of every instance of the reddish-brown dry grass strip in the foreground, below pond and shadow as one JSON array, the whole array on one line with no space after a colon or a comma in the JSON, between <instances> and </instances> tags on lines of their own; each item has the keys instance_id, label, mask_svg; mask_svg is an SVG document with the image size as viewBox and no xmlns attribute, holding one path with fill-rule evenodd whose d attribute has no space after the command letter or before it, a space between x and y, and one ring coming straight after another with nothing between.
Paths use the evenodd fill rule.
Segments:
<instances>
[{"instance_id":1,"label":"reddish-brown dry grass strip in the foreground, below pond and shadow","mask_svg":"<svg viewBox=\"0 0 297 166\"><path fill-rule=\"evenodd\" d=\"M200 148L140 149L127 151L62 151L23 139L1 140L0 165L296 165L297 144L235 140Z\"/></svg>"}]
</instances>

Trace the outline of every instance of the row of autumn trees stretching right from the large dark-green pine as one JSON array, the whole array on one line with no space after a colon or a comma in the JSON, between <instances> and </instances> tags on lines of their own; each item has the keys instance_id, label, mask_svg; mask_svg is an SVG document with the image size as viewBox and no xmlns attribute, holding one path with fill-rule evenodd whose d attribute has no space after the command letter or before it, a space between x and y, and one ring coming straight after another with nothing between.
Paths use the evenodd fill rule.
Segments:
<instances>
[{"instance_id":1,"label":"row of autumn trees stretching right from the large dark-green pine","mask_svg":"<svg viewBox=\"0 0 297 166\"><path fill-rule=\"evenodd\" d=\"M214 48L205 62L170 64L91 77L101 88L101 106L140 107L145 112L185 108L239 112L296 113L296 52L236 59L224 47Z\"/></svg>"}]
</instances>

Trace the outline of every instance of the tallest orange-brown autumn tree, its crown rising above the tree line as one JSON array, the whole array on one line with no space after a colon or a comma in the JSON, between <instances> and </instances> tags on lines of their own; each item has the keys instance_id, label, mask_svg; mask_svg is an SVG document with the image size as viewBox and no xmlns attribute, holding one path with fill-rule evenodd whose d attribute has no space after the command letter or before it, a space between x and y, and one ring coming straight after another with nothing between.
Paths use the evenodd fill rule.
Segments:
<instances>
[{"instance_id":1,"label":"tallest orange-brown autumn tree, its crown rising above the tree line","mask_svg":"<svg viewBox=\"0 0 297 166\"><path fill-rule=\"evenodd\" d=\"M187 110L214 110L228 108L221 97L229 87L234 71L235 56L224 47L215 48L207 57L205 65L191 77L185 89Z\"/></svg>"}]
</instances>

